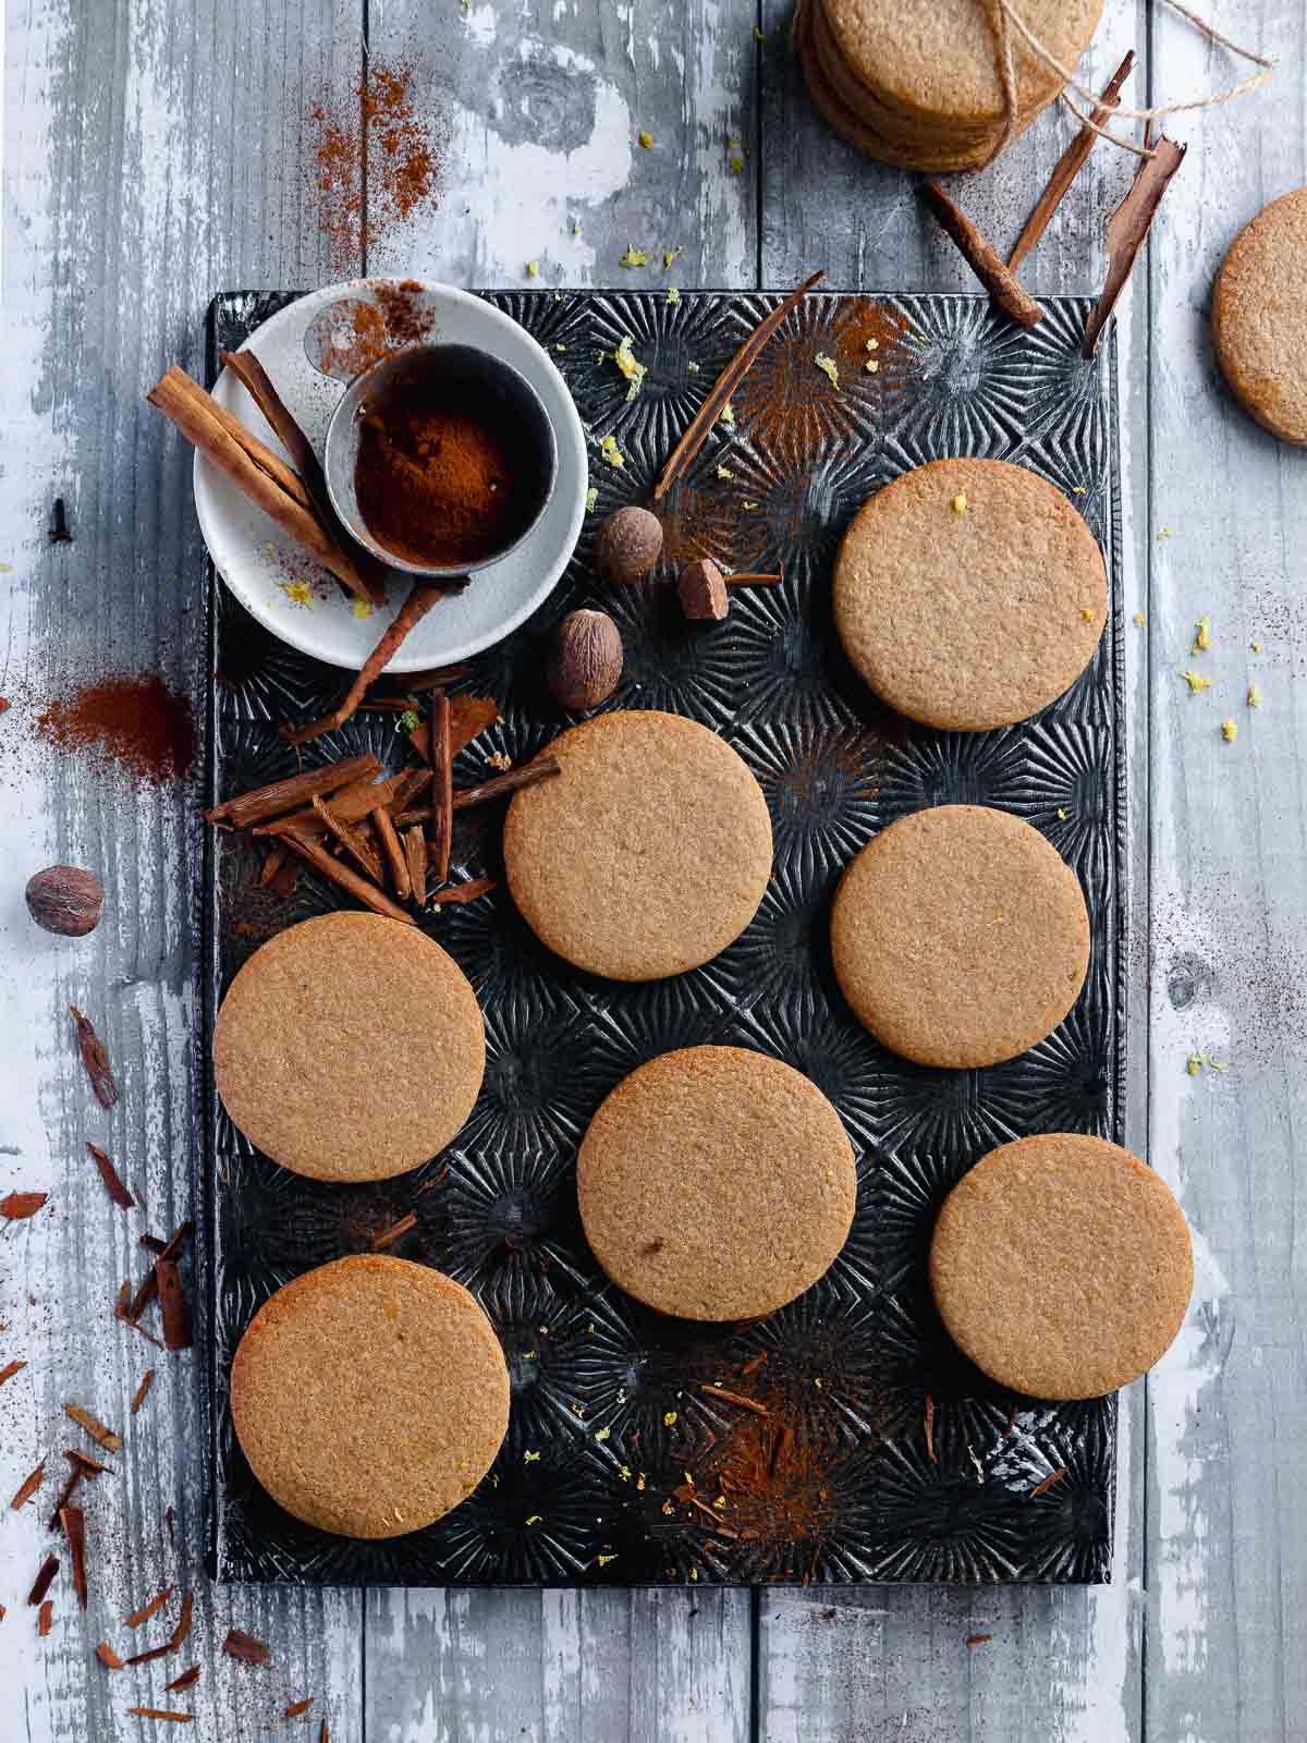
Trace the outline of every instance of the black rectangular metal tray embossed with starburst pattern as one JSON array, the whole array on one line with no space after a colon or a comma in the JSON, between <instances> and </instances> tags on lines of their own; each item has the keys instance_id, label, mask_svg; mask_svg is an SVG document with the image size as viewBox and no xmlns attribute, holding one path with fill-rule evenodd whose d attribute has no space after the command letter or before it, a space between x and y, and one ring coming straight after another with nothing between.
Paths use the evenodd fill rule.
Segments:
<instances>
[{"instance_id":1,"label":"black rectangular metal tray embossed with starburst pattern","mask_svg":"<svg viewBox=\"0 0 1307 1743\"><path fill-rule=\"evenodd\" d=\"M735 394L666 516L671 558L784 565L779 589L732 598L690 626L669 565L638 589L596 586L599 519L643 500L673 441L742 335L777 300L756 293L551 293L491 298L554 350L591 439L598 488L580 549L537 617L474 662L460 687L500 699L502 722L458 758L535 753L566 722L538 682L538 638L577 603L610 610L626 641L612 708L666 708L721 732L758 776L775 870L749 929L678 980L622 987L551 957L500 887L429 929L462 964L486 1018L481 1100L418 1173L345 1189L253 1154L207 1095L202 1276L213 1360L213 1572L300 1584L657 1584L777 1581L1105 1581L1110 1574L1115 1400L1035 1405L997 1391L939 1330L925 1283L932 1215L985 1150L1032 1131L1121 1138L1122 627L1114 349L1082 363L1087 302L1046 303L1025 333L983 298L814 295ZM282 295L220 296L216 347L235 347ZM624 335L643 390L612 364ZM870 352L866 340L877 340ZM599 352L608 357L599 361ZM840 390L816 368L836 361ZM871 357L875 375L864 364ZM599 457L615 434L626 467ZM1080 505L1108 565L1112 624L1093 666L1035 720L983 734L911 727L847 669L828 577L854 509L924 460L990 455L1032 467ZM275 723L340 688L211 589L209 788L225 797L293 772ZM375 749L392 763L394 715L359 715L310 744L308 763ZM1025 1058L932 1072L878 1048L845 1009L826 943L840 870L878 828L950 800L1012 810L1065 854L1093 922L1084 994ZM458 875L495 873L500 812L464 814ZM237 837L206 858L206 1035L230 976L282 926L338 903L301 872L293 903L253 889ZM805 1070L857 1150L859 1199L830 1274L746 1326L680 1325L606 1283L582 1238L573 1154L601 1096L640 1061L734 1042ZM206 1067L207 1081L207 1067ZM232 1351L258 1306L298 1272L366 1251L416 1211L394 1248L465 1283L512 1373L504 1450L477 1492L410 1537L354 1543L310 1530L253 1482L227 1410ZM706 1394L720 1382L767 1415ZM295 1400L288 1400L293 1412ZM927 1431L932 1419L932 1433ZM1054 1471L1054 1487L1035 1494ZM690 1487L690 1483L694 1487Z\"/></svg>"}]
</instances>

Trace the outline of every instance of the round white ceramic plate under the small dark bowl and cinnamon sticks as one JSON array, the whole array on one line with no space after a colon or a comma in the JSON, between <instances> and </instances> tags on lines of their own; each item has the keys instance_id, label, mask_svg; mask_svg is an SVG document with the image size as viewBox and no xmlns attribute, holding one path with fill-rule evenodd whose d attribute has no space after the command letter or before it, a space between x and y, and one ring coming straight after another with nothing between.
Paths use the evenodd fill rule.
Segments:
<instances>
[{"instance_id":1,"label":"round white ceramic plate under the small dark bowl and cinnamon sticks","mask_svg":"<svg viewBox=\"0 0 1307 1743\"><path fill-rule=\"evenodd\" d=\"M289 303L246 342L258 354L319 458L331 411L345 383L321 375L305 356L310 321L343 296L366 296L371 279L329 284ZM413 281L410 281L413 282ZM498 309L450 284L422 284L436 315L436 342L479 345L519 370L544 401L558 441L558 478L540 521L516 551L479 570L464 593L441 600L404 641L387 671L422 671L479 654L516 629L549 594L577 544L586 514L586 434L563 376L537 342ZM263 415L227 370L214 397L268 446L284 451ZM357 671L403 598L392 587L385 610L356 617L336 580L319 568L202 453L195 455L195 511L209 556L232 593L267 629L303 654ZM305 593L308 598L305 600Z\"/></svg>"}]
</instances>

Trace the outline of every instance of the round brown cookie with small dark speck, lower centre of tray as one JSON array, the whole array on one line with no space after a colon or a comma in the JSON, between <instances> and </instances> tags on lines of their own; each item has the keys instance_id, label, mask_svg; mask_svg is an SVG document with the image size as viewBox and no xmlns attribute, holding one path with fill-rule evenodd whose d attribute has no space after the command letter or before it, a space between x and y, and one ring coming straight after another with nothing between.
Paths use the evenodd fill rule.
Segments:
<instances>
[{"instance_id":1,"label":"round brown cookie with small dark speck, lower centre of tray","mask_svg":"<svg viewBox=\"0 0 1307 1743\"><path fill-rule=\"evenodd\" d=\"M631 1072L577 1157L586 1236L627 1295L678 1319L753 1319L802 1295L854 1217L854 1152L800 1072L683 1048Z\"/></svg>"}]
</instances>

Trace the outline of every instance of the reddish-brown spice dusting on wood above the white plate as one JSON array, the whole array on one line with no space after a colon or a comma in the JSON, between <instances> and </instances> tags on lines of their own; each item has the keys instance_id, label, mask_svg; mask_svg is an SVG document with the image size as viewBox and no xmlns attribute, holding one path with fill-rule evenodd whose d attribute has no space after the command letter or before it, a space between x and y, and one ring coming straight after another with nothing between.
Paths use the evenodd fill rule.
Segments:
<instances>
[{"instance_id":1,"label":"reddish-brown spice dusting on wood above the white plate","mask_svg":"<svg viewBox=\"0 0 1307 1743\"><path fill-rule=\"evenodd\" d=\"M361 253L439 195L443 127L416 112L413 82L411 61L373 61L347 96L310 110L317 218L336 267L357 267Z\"/></svg>"}]
</instances>

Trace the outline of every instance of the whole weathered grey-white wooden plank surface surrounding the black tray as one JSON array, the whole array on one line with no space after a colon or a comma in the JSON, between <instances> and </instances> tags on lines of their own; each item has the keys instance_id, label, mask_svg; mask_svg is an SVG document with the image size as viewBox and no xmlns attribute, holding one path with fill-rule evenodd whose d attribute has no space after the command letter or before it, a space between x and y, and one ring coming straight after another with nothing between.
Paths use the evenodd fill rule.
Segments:
<instances>
[{"instance_id":1,"label":"whole weathered grey-white wooden plank surface surrounding the black tray","mask_svg":"<svg viewBox=\"0 0 1307 1743\"><path fill-rule=\"evenodd\" d=\"M441 207L352 270L462 284L626 282L627 241L680 248L683 284L971 288L906 178L843 148L786 51L788 0L0 0L3 338L0 350L0 694L49 694L105 668L166 673L199 695L204 553L190 457L143 406L169 363L199 373L223 286L340 277L317 227L305 117L362 58L415 56L448 120ZM1124 1410L1110 1590L857 1593L286 1593L202 1576L193 1358L157 1361L120 1476L92 1497L87 1616L63 1597L35 1637L26 1588L37 1508L0 1516L0 1738L139 1738L192 1658L197 1743L275 1724L314 1694L336 1743L1274 1743L1307 1733L1307 455L1223 394L1206 335L1234 232L1307 180L1302 0L1206 0L1276 58L1274 85L1178 117L1190 141L1122 314L1129 481L1133 777L1131 1142L1178 1190L1199 1274L1178 1346ZM762 42L756 31L762 31ZM1147 0L1108 0L1087 68L1128 45L1128 98L1188 98L1239 77ZM640 129L655 138L636 145ZM1046 115L960 197L1011 241L1068 136ZM727 139L746 152L730 169ZM1089 291L1107 211L1129 176L1100 148L1023 275ZM570 234L572 220L580 239ZM1307 270L1307 267L1305 267ZM643 275L634 275L643 277ZM49 546L51 502L75 542ZM1178 680L1209 612L1216 687ZM1263 652L1251 652L1260 641ZM1244 708L1249 682L1263 706ZM1218 722L1239 722L1236 744ZM64 1445L59 1403L122 1424L148 1351L108 1319L136 1224L91 1175L101 1140L150 1225L192 1206L199 837L192 797L139 793L47 760L0 722L0 1192L51 1210L0 1236L0 1495ZM23 908L52 859L110 889L87 941L47 939ZM66 1006L101 1021L124 1100L91 1103ZM1190 1053L1229 1063L1190 1077ZM1304 1173L1307 1182L1307 1171ZM108 1492L106 1492L108 1490ZM176 1508L169 1544L164 1509ZM193 1654L106 1675L92 1647L164 1579L197 1590ZM833 1612L833 1614L831 1614ZM218 1656L230 1624L272 1670ZM971 1633L992 1631L967 1651Z\"/></svg>"}]
</instances>

